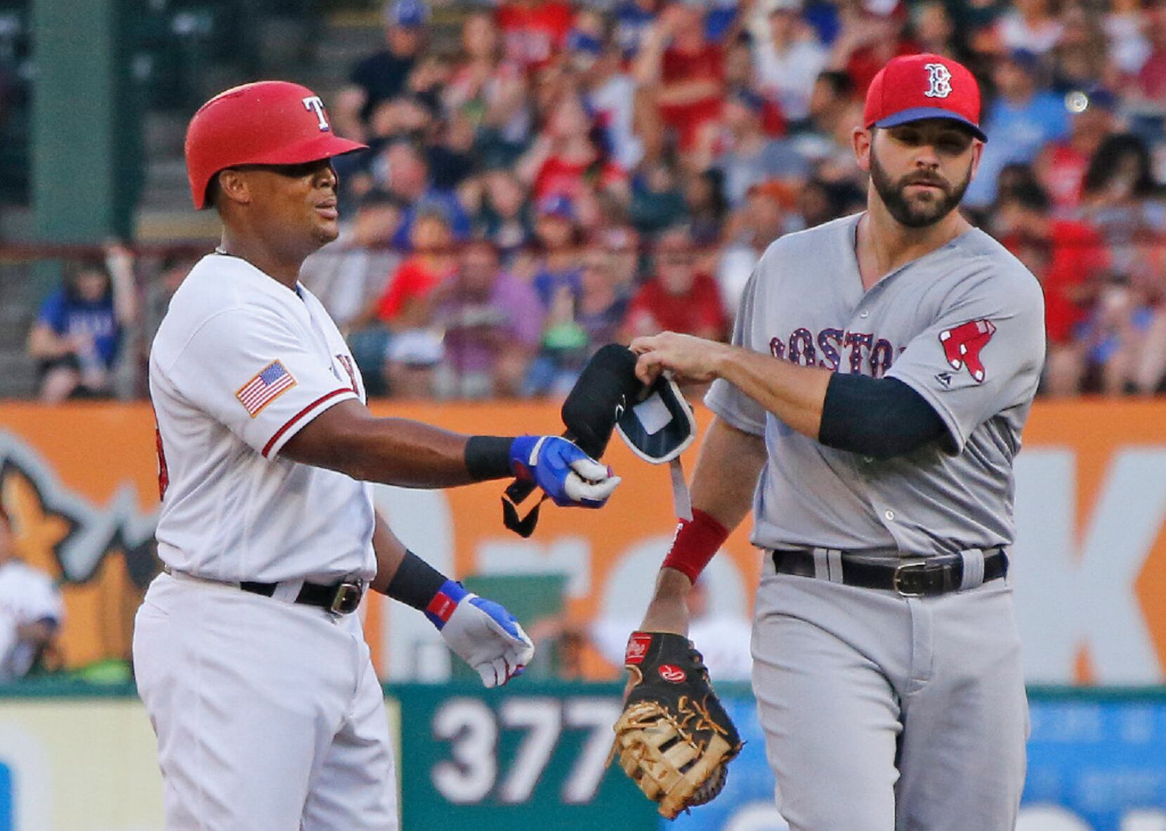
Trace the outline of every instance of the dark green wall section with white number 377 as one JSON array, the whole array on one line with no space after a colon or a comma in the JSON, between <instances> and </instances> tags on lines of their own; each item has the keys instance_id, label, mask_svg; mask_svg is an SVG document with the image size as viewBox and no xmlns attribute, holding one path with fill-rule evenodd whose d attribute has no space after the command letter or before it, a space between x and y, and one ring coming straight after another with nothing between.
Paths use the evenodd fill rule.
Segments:
<instances>
[{"instance_id":1,"label":"dark green wall section with white number 377","mask_svg":"<svg viewBox=\"0 0 1166 831\"><path fill-rule=\"evenodd\" d=\"M389 688L408 714L401 719L405 828L590 831L599 805L619 816L620 828L658 825L655 805L606 765L619 686L584 695L570 685L517 690Z\"/></svg>"}]
</instances>

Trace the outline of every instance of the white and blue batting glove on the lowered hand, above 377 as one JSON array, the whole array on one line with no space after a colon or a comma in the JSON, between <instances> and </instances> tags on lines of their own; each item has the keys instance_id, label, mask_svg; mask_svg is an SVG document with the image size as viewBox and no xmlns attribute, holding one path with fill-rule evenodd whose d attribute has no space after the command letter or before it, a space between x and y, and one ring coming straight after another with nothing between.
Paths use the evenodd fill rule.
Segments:
<instances>
[{"instance_id":1,"label":"white and blue batting glove on the lowered hand, above 377","mask_svg":"<svg viewBox=\"0 0 1166 831\"><path fill-rule=\"evenodd\" d=\"M534 657L534 643L513 614L455 580L445 580L426 617L486 686L501 686L521 675Z\"/></svg>"}]
</instances>

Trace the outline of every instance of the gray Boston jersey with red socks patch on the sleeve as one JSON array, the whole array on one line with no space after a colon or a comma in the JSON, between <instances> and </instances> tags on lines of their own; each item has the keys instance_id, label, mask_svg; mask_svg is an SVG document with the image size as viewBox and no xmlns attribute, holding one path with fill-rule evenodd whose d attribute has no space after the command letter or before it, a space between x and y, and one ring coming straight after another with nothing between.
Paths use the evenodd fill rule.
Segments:
<instances>
[{"instance_id":1,"label":"gray Boston jersey with red socks patch on the sleeve","mask_svg":"<svg viewBox=\"0 0 1166 831\"><path fill-rule=\"evenodd\" d=\"M795 432L716 381L709 407L765 436L753 542L918 555L1010 544L1012 459L1045 359L1040 286L999 242L971 230L864 291L859 216L770 246L745 289L733 344L897 378L935 408L949 436L871 459Z\"/></svg>"}]
</instances>

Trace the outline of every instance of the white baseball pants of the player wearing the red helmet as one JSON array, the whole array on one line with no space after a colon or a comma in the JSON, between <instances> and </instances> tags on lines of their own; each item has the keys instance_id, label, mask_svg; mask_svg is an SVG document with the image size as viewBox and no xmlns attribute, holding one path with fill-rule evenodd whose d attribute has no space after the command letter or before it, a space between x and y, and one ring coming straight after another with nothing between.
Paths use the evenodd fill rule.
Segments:
<instances>
[{"instance_id":1,"label":"white baseball pants of the player wearing the red helmet","mask_svg":"<svg viewBox=\"0 0 1166 831\"><path fill-rule=\"evenodd\" d=\"M160 575L134 627L169 831L396 831L360 621Z\"/></svg>"}]
</instances>

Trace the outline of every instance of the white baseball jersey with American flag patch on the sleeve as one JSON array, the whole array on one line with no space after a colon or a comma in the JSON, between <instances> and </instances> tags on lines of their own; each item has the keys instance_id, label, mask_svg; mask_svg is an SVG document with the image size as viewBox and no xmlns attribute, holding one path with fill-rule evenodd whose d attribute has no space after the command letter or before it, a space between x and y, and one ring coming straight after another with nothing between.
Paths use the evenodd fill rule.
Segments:
<instances>
[{"instance_id":1,"label":"white baseball jersey with American flag patch on the sleeve","mask_svg":"<svg viewBox=\"0 0 1166 831\"><path fill-rule=\"evenodd\" d=\"M229 582L375 575L368 486L279 457L324 410L365 400L310 291L239 258L203 258L154 338L149 387L164 563Z\"/></svg>"}]
</instances>

